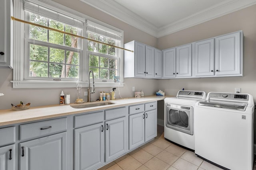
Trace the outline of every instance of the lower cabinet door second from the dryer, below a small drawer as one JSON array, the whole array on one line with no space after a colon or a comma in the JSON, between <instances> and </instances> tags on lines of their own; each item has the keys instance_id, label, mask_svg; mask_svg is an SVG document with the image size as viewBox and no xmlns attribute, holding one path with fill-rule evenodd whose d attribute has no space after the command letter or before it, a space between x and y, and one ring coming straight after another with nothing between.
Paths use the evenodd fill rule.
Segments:
<instances>
[{"instance_id":1,"label":"lower cabinet door second from the dryer, below a small drawer","mask_svg":"<svg viewBox=\"0 0 256 170\"><path fill-rule=\"evenodd\" d=\"M145 142L145 114L137 113L129 116L129 149Z\"/></svg>"}]
</instances>

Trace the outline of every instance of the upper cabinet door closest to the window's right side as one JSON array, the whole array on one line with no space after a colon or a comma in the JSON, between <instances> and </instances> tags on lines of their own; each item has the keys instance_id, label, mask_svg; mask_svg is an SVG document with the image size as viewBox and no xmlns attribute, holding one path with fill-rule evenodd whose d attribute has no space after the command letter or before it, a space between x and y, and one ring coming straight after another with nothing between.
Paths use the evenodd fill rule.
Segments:
<instances>
[{"instance_id":1,"label":"upper cabinet door closest to the window's right side","mask_svg":"<svg viewBox=\"0 0 256 170\"><path fill-rule=\"evenodd\" d=\"M146 74L145 45L135 42L135 76L145 77Z\"/></svg>"}]
</instances>

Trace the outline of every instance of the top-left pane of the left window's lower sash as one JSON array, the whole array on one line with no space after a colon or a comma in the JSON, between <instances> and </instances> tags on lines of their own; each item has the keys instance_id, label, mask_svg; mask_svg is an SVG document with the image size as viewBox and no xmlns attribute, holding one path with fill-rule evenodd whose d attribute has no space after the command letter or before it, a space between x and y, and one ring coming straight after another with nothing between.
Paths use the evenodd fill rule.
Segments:
<instances>
[{"instance_id":1,"label":"top-left pane of the left window's lower sash","mask_svg":"<svg viewBox=\"0 0 256 170\"><path fill-rule=\"evenodd\" d=\"M30 60L48 61L48 47L30 44Z\"/></svg>"}]
</instances>

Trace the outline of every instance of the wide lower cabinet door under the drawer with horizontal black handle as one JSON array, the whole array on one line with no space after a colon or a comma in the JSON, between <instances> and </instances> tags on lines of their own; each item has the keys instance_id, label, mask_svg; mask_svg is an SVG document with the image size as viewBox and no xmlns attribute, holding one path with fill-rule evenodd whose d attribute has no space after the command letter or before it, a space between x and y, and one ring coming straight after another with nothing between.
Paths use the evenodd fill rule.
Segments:
<instances>
[{"instance_id":1,"label":"wide lower cabinet door under the drawer with horizontal black handle","mask_svg":"<svg viewBox=\"0 0 256 170\"><path fill-rule=\"evenodd\" d=\"M20 143L20 170L66 170L67 133Z\"/></svg>"}]
</instances>

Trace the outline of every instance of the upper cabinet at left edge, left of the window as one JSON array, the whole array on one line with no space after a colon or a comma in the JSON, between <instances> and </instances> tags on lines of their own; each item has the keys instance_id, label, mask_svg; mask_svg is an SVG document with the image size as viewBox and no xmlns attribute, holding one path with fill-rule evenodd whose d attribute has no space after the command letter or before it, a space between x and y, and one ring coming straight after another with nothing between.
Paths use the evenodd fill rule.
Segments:
<instances>
[{"instance_id":1,"label":"upper cabinet at left edge, left of the window","mask_svg":"<svg viewBox=\"0 0 256 170\"><path fill-rule=\"evenodd\" d=\"M12 68L12 32L13 21L11 15L13 13L12 0L2 0L0 5L0 66L9 66Z\"/></svg>"}]
</instances>

